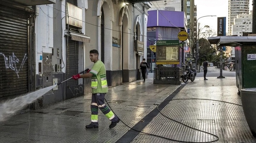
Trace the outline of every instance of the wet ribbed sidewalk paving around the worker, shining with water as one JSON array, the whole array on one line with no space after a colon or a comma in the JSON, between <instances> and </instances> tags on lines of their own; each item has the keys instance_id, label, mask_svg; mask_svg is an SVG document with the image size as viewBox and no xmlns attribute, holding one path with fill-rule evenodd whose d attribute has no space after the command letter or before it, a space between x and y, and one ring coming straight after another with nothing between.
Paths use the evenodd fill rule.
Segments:
<instances>
[{"instance_id":1,"label":"wet ribbed sidewalk paving around the worker, shining with water","mask_svg":"<svg viewBox=\"0 0 256 143\"><path fill-rule=\"evenodd\" d=\"M105 98L126 125L157 136L132 131L122 122L110 129L101 111L99 128L86 129L88 94L0 122L0 143L256 143L235 77L207 78L181 85L153 84L153 73L149 73L145 83L140 80L109 89Z\"/></svg>"}]
</instances>

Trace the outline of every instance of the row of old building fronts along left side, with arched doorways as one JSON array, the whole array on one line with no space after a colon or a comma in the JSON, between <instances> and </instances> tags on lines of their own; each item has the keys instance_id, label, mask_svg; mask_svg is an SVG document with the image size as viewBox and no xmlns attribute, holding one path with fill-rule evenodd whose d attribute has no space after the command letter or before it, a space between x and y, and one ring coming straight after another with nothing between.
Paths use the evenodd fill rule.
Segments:
<instances>
[{"instance_id":1,"label":"row of old building fronts along left side, with arched doorways","mask_svg":"<svg viewBox=\"0 0 256 143\"><path fill-rule=\"evenodd\" d=\"M0 100L63 81L32 108L90 93L90 79L67 79L93 66L92 49L105 64L109 87L139 79L149 1L42 0L32 6L21 1L13 0L13 6L1 0Z\"/></svg>"}]
</instances>

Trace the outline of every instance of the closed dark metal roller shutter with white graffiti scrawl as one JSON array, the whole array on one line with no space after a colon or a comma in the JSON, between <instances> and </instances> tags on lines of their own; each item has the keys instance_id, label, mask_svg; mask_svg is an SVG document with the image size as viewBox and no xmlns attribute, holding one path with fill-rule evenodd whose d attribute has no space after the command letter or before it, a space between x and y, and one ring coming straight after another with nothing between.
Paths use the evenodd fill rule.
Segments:
<instances>
[{"instance_id":1,"label":"closed dark metal roller shutter with white graffiti scrawl","mask_svg":"<svg viewBox=\"0 0 256 143\"><path fill-rule=\"evenodd\" d=\"M0 100L28 92L28 18L0 5Z\"/></svg>"}]
</instances>

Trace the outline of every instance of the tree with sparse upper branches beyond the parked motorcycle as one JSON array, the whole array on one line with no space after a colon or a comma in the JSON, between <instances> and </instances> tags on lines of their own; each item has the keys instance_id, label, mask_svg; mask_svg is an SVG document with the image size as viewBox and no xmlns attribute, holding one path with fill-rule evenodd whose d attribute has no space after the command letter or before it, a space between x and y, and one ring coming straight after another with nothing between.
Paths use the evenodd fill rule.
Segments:
<instances>
[{"instance_id":1,"label":"tree with sparse upper branches beyond the parked motorcycle","mask_svg":"<svg viewBox=\"0 0 256 143\"><path fill-rule=\"evenodd\" d=\"M199 33L199 49L198 56L196 59L196 41L198 36L197 33ZM200 28L198 32L196 32L196 28L190 27L189 47L191 51L191 56L197 62L197 67L199 67L198 65L202 63L202 60L204 61L206 55L216 53L216 47L210 45L209 41L207 40L208 37L214 36L216 36L216 32L213 29L211 29L210 26L208 25L205 25L204 27Z\"/></svg>"}]
</instances>

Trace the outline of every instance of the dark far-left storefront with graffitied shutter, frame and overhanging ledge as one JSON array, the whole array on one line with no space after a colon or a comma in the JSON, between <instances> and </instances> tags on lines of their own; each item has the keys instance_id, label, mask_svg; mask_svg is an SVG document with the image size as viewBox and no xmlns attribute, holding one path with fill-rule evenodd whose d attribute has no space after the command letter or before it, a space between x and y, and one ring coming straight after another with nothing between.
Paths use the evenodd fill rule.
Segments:
<instances>
[{"instance_id":1,"label":"dark far-left storefront with graffitied shutter, frame and overhanging ledge","mask_svg":"<svg viewBox=\"0 0 256 143\"><path fill-rule=\"evenodd\" d=\"M0 100L36 90L34 5L53 3L0 1Z\"/></svg>"}]
</instances>

